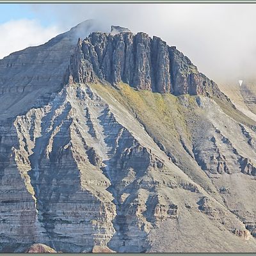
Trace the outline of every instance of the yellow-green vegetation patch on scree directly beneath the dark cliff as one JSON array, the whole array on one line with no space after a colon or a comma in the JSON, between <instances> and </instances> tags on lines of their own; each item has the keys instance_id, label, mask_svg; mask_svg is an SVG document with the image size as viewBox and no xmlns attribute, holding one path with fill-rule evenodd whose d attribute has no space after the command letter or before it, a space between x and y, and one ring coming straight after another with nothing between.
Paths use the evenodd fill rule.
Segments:
<instances>
[{"instance_id":1,"label":"yellow-green vegetation patch on scree directly beneath the dark cliff","mask_svg":"<svg viewBox=\"0 0 256 256\"><path fill-rule=\"evenodd\" d=\"M103 98L111 95L118 100L145 125L149 134L154 134L154 137L180 140L180 133L190 137L183 115L184 106L180 104L178 97L170 93L137 91L124 83L118 84L119 90L102 84L93 84L92 87Z\"/></svg>"}]
</instances>

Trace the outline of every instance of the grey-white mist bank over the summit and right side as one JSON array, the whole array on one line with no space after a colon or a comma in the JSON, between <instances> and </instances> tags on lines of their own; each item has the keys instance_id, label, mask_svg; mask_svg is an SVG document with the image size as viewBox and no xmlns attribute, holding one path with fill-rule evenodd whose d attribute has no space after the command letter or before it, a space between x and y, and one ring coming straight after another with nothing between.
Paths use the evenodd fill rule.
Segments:
<instances>
[{"instance_id":1,"label":"grey-white mist bank over the summit and right side","mask_svg":"<svg viewBox=\"0 0 256 256\"><path fill-rule=\"evenodd\" d=\"M45 10L38 5L35 12L40 16ZM72 4L72 10L67 4L51 4L47 9L66 30L95 19L100 31L117 24L159 36L218 83L254 76L255 11L255 4Z\"/></svg>"}]
</instances>

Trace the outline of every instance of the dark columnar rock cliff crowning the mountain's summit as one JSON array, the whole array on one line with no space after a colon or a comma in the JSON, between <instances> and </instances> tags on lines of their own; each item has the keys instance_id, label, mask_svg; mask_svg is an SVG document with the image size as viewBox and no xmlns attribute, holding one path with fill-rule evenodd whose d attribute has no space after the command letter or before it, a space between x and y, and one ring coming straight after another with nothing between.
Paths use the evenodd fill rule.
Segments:
<instances>
[{"instance_id":1,"label":"dark columnar rock cliff crowning the mountain's summit","mask_svg":"<svg viewBox=\"0 0 256 256\"><path fill-rule=\"evenodd\" d=\"M70 74L77 83L111 84L121 81L138 90L180 95L205 94L216 84L198 72L176 47L145 33L92 33L79 40L70 61Z\"/></svg>"}]
</instances>

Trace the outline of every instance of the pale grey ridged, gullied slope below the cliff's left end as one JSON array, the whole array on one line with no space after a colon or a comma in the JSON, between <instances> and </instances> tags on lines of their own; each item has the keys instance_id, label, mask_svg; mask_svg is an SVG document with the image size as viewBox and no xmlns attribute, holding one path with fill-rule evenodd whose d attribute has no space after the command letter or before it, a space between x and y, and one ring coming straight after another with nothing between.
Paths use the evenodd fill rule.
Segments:
<instances>
[{"instance_id":1,"label":"pale grey ridged, gullied slope below the cliff's left end","mask_svg":"<svg viewBox=\"0 0 256 256\"><path fill-rule=\"evenodd\" d=\"M98 87L106 95L102 85ZM118 252L154 251L154 243L148 240L151 230L169 219L179 223L180 216L191 212L214 232L220 230L216 243L229 237L232 243L248 243L247 250L253 250L250 232L228 211L217 189L205 189L204 182L182 172L129 110L112 100L106 104L89 86L70 84L52 95L49 104L17 116L13 140L18 141L11 149L14 163L6 163L1 180L14 173L20 173L20 179L7 186L9 193L1 193L2 246L11 246L9 237L13 237L22 246L33 241L62 252L90 252L93 246ZM207 183L206 175L202 179ZM8 205L17 210L25 203L10 198L17 189L28 198L26 215L24 209L10 214Z\"/></svg>"}]
</instances>

